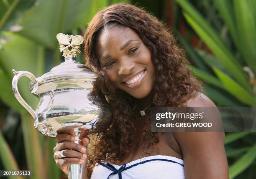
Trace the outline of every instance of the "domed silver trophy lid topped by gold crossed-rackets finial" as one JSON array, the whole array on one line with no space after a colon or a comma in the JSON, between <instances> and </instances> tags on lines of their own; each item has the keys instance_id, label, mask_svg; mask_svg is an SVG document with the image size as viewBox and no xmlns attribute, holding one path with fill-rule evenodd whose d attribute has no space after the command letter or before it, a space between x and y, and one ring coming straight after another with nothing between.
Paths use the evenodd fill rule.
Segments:
<instances>
[{"instance_id":1,"label":"domed silver trophy lid topped by gold crossed-rackets finial","mask_svg":"<svg viewBox=\"0 0 256 179\"><path fill-rule=\"evenodd\" d=\"M60 88L75 88L76 86L84 86L84 82L92 84L95 81L95 73L93 73L87 66L75 61L79 45L83 43L81 35L65 35L63 33L57 34L60 51L63 52L65 61L58 66L55 66L48 73L45 73L39 78L37 93L43 93ZM70 85L70 84L75 85ZM65 84L65 85L63 85ZM58 88L57 88L58 86ZM40 88L41 87L41 88ZM30 86L32 89L32 84Z\"/></svg>"}]
</instances>

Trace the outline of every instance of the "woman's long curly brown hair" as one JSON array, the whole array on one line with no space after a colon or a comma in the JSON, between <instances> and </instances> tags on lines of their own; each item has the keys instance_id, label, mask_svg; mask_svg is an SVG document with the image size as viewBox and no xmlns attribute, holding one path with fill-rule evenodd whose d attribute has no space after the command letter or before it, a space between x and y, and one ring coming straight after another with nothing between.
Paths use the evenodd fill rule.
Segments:
<instances>
[{"instance_id":1,"label":"woman's long curly brown hair","mask_svg":"<svg viewBox=\"0 0 256 179\"><path fill-rule=\"evenodd\" d=\"M100 139L90 142L92 154L88 156L89 173L96 162L109 162L110 158L113 161L122 161L130 147L138 144L134 127L134 97L110 83L96 54L99 35L110 25L131 28L150 50L156 69L152 106L184 106L195 92L203 92L200 81L188 68L183 51L177 47L173 35L157 18L143 9L124 3L110 5L98 12L84 34L84 55L87 66L97 75L91 95L97 96L95 100L99 101L95 101L96 103L109 106L112 123L100 133ZM151 132L150 120L146 122L142 135L147 141L143 151L150 154L159 141L158 134Z\"/></svg>"}]
</instances>

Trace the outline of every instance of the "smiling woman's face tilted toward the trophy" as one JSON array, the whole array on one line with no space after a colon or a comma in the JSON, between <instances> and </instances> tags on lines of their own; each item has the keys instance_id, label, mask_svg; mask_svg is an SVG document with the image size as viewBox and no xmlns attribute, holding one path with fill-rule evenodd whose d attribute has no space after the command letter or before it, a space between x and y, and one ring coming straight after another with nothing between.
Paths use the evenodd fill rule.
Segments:
<instances>
[{"instance_id":1,"label":"smiling woman's face tilted toward the trophy","mask_svg":"<svg viewBox=\"0 0 256 179\"><path fill-rule=\"evenodd\" d=\"M97 42L101 68L110 82L135 98L144 98L154 84L151 53L130 28L104 29Z\"/></svg>"}]
</instances>

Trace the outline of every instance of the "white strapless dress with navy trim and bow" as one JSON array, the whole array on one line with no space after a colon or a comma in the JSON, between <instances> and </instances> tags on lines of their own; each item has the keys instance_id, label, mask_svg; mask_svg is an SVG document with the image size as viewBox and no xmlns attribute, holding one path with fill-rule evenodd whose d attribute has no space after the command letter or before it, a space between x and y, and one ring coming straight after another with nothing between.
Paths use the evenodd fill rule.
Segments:
<instances>
[{"instance_id":1,"label":"white strapless dress with navy trim and bow","mask_svg":"<svg viewBox=\"0 0 256 179\"><path fill-rule=\"evenodd\" d=\"M165 155L147 156L122 166L102 162L94 167L91 179L184 179L183 163Z\"/></svg>"}]
</instances>

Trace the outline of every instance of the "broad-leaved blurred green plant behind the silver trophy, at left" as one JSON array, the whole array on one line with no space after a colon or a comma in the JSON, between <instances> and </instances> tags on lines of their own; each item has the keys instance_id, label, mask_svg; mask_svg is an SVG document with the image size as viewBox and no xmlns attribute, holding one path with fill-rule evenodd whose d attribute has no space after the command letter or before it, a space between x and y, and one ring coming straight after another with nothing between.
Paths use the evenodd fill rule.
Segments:
<instances>
[{"instance_id":1,"label":"broad-leaved blurred green plant behind the silver trophy, at left","mask_svg":"<svg viewBox=\"0 0 256 179\"><path fill-rule=\"evenodd\" d=\"M48 72L63 59L56 34L82 33L98 10L117 2L120 0L0 0L0 99L9 107L8 111L1 109L5 116L0 123L5 124L0 131L0 164L3 169L28 169L33 179L60 178L61 170L53 159L56 140L36 131L32 117L15 99L11 86L12 69L30 71L36 77ZM82 55L78 56L78 61L83 61ZM19 91L35 108L38 100L28 90L29 83L28 79L21 78ZM16 118L12 117L13 114ZM20 114L22 128L19 129L22 132L11 136L8 145L3 132L7 138L8 134L16 133L12 127L18 128L17 114ZM19 134L23 137L20 138ZM17 139L24 140L25 168L24 165L19 168L24 162L15 159L23 146Z\"/></svg>"}]
</instances>

